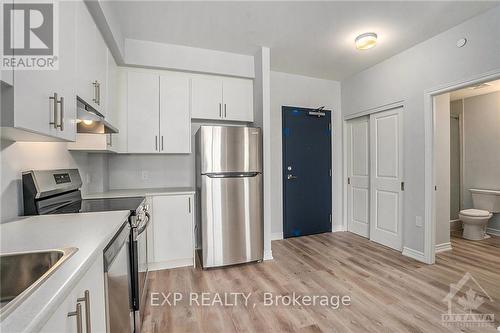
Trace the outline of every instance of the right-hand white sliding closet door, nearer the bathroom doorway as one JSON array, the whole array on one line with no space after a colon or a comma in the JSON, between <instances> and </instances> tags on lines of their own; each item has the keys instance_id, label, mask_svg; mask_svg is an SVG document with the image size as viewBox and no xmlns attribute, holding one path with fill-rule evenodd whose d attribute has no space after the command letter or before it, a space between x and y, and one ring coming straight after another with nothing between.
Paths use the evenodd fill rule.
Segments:
<instances>
[{"instance_id":1,"label":"right-hand white sliding closet door, nearer the bathroom doorway","mask_svg":"<svg viewBox=\"0 0 500 333\"><path fill-rule=\"evenodd\" d=\"M370 115L370 164L370 240L402 250L402 107Z\"/></svg>"}]
</instances>

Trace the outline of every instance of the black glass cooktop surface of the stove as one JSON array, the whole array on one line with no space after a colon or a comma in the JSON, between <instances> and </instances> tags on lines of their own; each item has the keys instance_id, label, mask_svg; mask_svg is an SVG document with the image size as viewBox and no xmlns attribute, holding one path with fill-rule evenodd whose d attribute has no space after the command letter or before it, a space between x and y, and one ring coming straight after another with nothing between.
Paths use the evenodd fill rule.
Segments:
<instances>
[{"instance_id":1,"label":"black glass cooktop surface of the stove","mask_svg":"<svg viewBox=\"0 0 500 333\"><path fill-rule=\"evenodd\" d=\"M113 210L136 211L142 205L144 197L84 199L60 207L51 214L106 212Z\"/></svg>"}]
</instances>

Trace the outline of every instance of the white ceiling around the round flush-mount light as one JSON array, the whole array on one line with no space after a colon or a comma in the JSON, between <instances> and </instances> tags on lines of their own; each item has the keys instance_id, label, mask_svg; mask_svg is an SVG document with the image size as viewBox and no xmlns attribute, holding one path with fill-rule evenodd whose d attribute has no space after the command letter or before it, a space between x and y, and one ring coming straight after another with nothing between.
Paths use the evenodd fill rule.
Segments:
<instances>
[{"instance_id":1,"label":"white ceiling around the round flush-mount light","mask_svg":"<svg viewBox=\"0 0 500 333\"><path fill-rule=\"evenodd\" d=\"M253 55L271 48L275 71L341 80L498 2L114 1L124 38ZM364 32L379 35L367 51Z\"/></svg>"}]
</instances>

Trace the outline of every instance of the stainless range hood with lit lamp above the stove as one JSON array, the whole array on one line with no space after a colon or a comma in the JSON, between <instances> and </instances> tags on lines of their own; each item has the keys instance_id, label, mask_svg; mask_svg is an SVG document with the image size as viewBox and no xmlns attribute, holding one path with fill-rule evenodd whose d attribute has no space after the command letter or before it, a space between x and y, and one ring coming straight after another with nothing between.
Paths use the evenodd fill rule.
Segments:
<instances>
[{"instance_id":1,"label":"stainless range hood with lit lamp above the stove","mask_svg":"<svg viewBox=\"0 0 500 333\"><path fill-rule=\"evenodd\" d=\"M104 116L80 97L76 97L77 133L109 134L118 133L118 129L108 123Z\"/></svg>"}]
</instances>

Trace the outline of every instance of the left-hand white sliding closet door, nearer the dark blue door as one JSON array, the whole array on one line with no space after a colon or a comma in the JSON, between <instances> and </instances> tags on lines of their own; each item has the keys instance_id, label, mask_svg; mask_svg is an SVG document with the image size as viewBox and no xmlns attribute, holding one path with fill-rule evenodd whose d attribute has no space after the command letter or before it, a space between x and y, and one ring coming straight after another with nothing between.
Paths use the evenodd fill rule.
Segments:
<instances>
[{"instance_id":1,"label":"left-hand white sliding closet door, nearer the dark blue door","mask_svg":"<svg viewBox=\"0 0 500 333\"><path fill-rule=\"evenodd\" d=\"M347 229L363 237L370 231L369 140L368 117L347 122Z\"/></svg>"}]
</instances>

